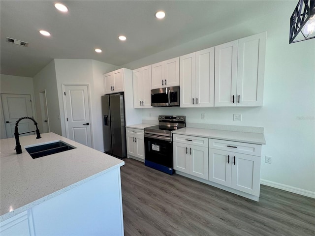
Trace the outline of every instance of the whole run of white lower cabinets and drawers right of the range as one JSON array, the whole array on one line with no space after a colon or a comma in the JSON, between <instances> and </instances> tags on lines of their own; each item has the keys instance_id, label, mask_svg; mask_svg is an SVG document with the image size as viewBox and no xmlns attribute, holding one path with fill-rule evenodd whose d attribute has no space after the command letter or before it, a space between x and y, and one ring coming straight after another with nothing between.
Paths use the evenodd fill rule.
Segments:
<instances>
[{"instance_id":1,"label":"whole run of white lower cabinets and drawers right of the range","mask_svg":"<svg viewBox=\"0 0 315 236\"><path fill-rule=\"evenodd\" d=\"M179 174L258 201L261 145L180 134L173 138Z\"/></svg>"}]
</instances>

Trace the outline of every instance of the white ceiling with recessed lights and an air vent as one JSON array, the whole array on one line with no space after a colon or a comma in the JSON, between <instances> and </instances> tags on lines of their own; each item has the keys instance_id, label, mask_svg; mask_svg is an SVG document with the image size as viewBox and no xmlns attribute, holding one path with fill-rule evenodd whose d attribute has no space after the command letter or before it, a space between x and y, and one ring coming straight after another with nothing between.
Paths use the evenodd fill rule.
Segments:
<instances>
[{"instance_id":1,"label":"white ceiling with recessed lights and an air vent","mask_svg":"<svg viewBox=\"0 0 315 236\"><path fill-rule=\"evenodd\" d=\"M1 74L33 77L52 59L95 59L121 66L272 11L267 0L1 0ZM158 10L166 17L157 20ZM293 9L292 9L293 12ZM289 20L289 19L288 19ZM38 30L45 29L51 37ZM118 40L124 34L125 42ZM22 47L6 37L29 43ZM103 50L101 54L94 49Z\"/></svg>"}]
</instances>

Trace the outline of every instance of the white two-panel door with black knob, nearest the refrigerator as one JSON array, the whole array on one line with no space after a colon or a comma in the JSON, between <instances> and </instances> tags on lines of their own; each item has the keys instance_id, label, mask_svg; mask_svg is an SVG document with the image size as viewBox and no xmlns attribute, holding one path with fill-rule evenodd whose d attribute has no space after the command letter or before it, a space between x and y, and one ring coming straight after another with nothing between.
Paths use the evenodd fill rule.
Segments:
<instances>
[{"instance_id":1,"label":"white two-panel door with black knob, nearest the refrigerator","mask_svg":"<svg viewBox=\"0 0 315 236\"><path fill-rule=\"evenodd\" d=\"M65 85L64 94L67 138L92 148L88 86Z\"/></svg>"}]
</instances>

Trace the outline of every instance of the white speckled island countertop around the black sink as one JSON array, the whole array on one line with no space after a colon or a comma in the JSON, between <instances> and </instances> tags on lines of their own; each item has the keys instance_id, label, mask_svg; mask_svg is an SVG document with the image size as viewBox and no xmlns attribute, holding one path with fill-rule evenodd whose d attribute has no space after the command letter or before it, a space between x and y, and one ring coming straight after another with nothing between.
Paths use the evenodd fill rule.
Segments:
<instances>
[{"instance_id":1,"label":"white speckled island countertop around the black sink","mask_svg":"<svg viewBox=\"0 0 315 236\"><path fill-rule=\"evenodd\" d=\"M95 177L125 164L124 161L54 133L0 140L0 221L19 214ZM25 146L63 141L71 150L32 159Z\"/></svg>"}]
</instances>

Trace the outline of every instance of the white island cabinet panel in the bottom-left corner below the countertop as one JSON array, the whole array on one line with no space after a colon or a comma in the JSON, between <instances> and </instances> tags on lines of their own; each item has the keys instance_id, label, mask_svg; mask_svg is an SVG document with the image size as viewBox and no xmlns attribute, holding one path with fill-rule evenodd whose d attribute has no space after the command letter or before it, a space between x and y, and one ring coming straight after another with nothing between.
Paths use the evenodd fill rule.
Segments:
<instances>
[{"instance_id":1,"label":"white island cabinet panel in the bottom-left corner below the countertop","mask_svg":"<svg viewBox=\"0 0 315 236\"><path fill-rule=\"evenodd\" d=\"M0 223L1 236L29 236L28 213L24 211Z\"/></svg>"}]
</instances>

